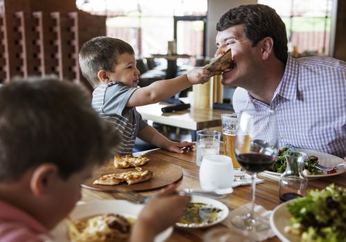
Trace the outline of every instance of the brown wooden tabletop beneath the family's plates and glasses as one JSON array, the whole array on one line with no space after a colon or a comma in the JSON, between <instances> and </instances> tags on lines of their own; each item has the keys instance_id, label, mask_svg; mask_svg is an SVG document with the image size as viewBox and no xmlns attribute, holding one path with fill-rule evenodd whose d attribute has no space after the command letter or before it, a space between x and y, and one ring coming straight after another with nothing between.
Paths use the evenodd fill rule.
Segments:
<instances>
[{"instance_id":1,"label":"brown wooden tabletop beneath the family's plates and glasses","mask_svg":"<svg viewBox=\"0 0 346 242\"><path fill-rule=\"evenodd\" d=\"M224 153L223 145L220 147L220 153ZM199 167L196 165L196 151L190 151L185 154L173 153L165 151L163 149L154 149L150 151L142 151L134 153L135 156L142 155L146 156L150 160L160 160L161 162L172 162L183 169L183 176L181 179L177 180L176 184L178 189L185 188L200 188L199 185ZM272 180L266 176L261 176L259 178L264 179L264 183L256 185L256 200L257 205L262 205L266 210L273 210L277 205L280 204L279 201L279 185L277 180ZM316 180L309 180L308 189L322 189L329 185L330 183L335 183L340 187L346 187L346 173L340 174L338 176L328 176L327 178L319 178ZM138 192L138 194L147 196L158 192L160 189L153 189L146 192ZM82 188L82 201L98 201L102 199L127 199L129 196L126 192L96 192L91 189ZM237 207L240 207L251 201L251 186L245 185L240 187L235 187L233 193L222 198L219 201L224 203L232 213ZM203 236L206 232L218 228L226 227L222 223L213 225L212 227L201 228L201 229L182 229L180 227L174 227L174 232L167 239L170 242L190 242L190 241L203 241ZM276 236L267 239L266 241L280 241Z\"/></svg>"}]
</instances>

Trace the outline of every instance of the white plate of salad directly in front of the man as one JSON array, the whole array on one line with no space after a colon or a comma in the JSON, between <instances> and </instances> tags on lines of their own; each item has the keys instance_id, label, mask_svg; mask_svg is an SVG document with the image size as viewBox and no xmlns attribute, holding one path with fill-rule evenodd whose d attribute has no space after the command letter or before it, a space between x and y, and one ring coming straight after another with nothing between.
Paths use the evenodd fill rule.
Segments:
<instances>
[{"instance_id":1,"label":"white plate of salad directly in front of the man","mask_svg":"<svg viewBox=\"0 0 346 242\"><path fill-rule=\"evenodd\" d=\"M311 149L295 149L296 151L304 152L307 154L307 158L304 160L303 173L309 180L323 178L327 176L337 176L343 174L346 171L345 165L343 165L343 159L338 156L333 156L329 153L322 153L319 151L313 151ZM286 170L286 159L284 158L285 152L289 151L288 147L280 149L279 156L274 164L269 167L265 174L280 176ZM324 172L316 168L316 165L320 164L324 167L334 168L332 172Z\"/></svg>"}]
</instances>

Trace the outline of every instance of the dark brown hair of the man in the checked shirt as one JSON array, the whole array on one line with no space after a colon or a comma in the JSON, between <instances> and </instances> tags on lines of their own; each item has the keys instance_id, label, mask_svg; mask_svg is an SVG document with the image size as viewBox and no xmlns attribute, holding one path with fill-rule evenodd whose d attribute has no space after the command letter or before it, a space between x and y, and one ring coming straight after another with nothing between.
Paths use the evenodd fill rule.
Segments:
<instances>
[{"instance_id":1,"label":"dark brown hair of the man in the checked shirt","mask_svg":"<svg viewBox=\"0 0 346 242\"><path fill-rule=\"evenodd\" d=\"M217 31L244 24L244 34L253 46L265 37L274 41L274 54L286 64L288 57L287 35L284 22L275 10L262 4L242 5L231 8L221 16L217 23Z\"/></svg>"}]
</instances>

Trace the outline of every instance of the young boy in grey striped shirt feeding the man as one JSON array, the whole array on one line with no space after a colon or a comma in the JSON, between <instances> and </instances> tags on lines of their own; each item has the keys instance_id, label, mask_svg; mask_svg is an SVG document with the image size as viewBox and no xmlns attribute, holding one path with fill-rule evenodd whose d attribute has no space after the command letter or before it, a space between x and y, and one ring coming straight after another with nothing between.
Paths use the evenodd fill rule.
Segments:
<instances>
[{"instance_id":1,"label":"young boy in grey striped shirt feeding the man","mask_svg":"<svg viewBox=\"0 0 346 242\"><path fill-rule=\"evenodd\" d=\"M136 68L134 49L125 41L111 37L95 37L87 41L80 50L79 60L82 74L95 89L94 109L102 118L115 122L114 126L122 133L114 153L131 154L137 136L167 151L184 153L183 148L185 151L193 149L193 142L172 142L148 126L136 106L160 102L192 84L208 82L209 71L194 68L171 80L137 88L140 71Z\"/></svg>"}]
</instances>

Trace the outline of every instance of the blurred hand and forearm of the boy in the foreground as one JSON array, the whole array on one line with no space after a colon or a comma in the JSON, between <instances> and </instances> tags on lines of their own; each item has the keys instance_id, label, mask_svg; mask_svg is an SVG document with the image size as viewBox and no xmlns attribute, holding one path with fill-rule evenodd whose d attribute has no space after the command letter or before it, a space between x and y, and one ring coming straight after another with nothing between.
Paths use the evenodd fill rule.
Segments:
<instances>
[{"instance_id":1,"label":"blurred hand and forearm of the boy in the foreground","mask_svg":"<svg viewBox=\"0 0 346 242\"><path fill-rule=\"evenodd\" d=\"M152 242L158 233L179 221L183 208L191 198L176 195L175 192L176 185L170 185L149 200L134 224L131 242Z\"/></svg>"}]
</instances>

